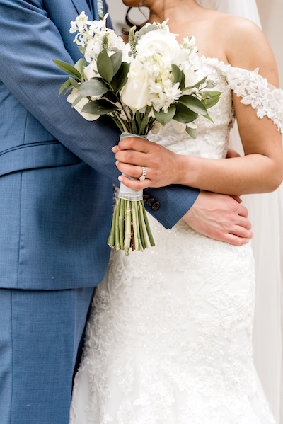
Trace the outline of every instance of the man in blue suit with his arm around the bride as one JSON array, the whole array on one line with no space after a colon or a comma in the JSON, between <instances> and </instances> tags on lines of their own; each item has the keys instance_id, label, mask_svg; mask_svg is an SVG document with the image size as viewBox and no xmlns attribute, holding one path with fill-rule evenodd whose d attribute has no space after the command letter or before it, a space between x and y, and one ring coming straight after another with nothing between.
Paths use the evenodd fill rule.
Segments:
<instances>
[{"instance_id":1,"label":"man in blue suit with his arm around the bride","mask_svg":"<svg viewBox=\"0 0 283 424\"><path fill-rule=\"evenodd\" d=\"M58 98L67 76L50 60L79 59L69 23L83 10L98 18L91 0L0 0L1 424L68 423L78 346L110 253L119 134ZM185 215L207 236L246 241L246 209L231 197L147 191L165 227Z\"/></svg>"}]
</instances>

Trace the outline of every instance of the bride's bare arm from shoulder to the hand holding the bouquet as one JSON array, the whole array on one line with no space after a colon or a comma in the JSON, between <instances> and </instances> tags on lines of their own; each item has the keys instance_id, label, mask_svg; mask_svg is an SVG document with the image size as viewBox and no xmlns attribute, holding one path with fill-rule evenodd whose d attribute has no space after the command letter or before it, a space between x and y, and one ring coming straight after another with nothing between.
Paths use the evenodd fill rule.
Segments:
<instances>
[{"instance_id":1,"label":"bride's bare arm from shoulder to the hand holding the bouquet","mask_svg":"<svg viewBox=\"0 0 283 424\"><path fill-rule=\"evenodd\" d=\"M233 26L234 25L234 26ZM227 38L226 51L233 67L253 70L272 85L278 86L277 68L270 47L260 29L241 18L233 18L232 30ZM237 34L237 37L236 37ZM241 103L233 94L233 104L245 151L243 158L227 160L203 159L176 155L154 143L139 147L134 139L123 140L121 149L133 148L135 152L119 152L119 161L146 166L146 180L124 182L132 188L184 184L216 193L244 194L264 193L275 190L283 178L282 135L272 120L260 120L250 105ZM139 153L139 155L138 155ZM145 156L146 155L146 156ZM141 168L117 164L128 175L141 175Z\"/></svg>"}]
</instances>

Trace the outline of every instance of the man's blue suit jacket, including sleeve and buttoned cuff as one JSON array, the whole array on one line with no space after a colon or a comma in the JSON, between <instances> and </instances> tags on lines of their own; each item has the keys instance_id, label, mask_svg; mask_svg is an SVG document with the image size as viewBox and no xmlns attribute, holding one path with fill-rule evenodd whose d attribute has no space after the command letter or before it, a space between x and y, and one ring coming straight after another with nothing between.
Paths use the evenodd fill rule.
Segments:
<instances>
[{"instance_id":1,"label":"man's blue suit jacket, including sleeve and buttoned cuff","mask_svg":"<svg viewBox=\"0 0 283 424\"><path fill-rule=\"evenodd\" d=\"M94 16L86 0L0 0L0 287L87 287L105 273L119 133L58 98L67 75L50 60L79 59L70 21L83 10L97 18L93 6ZM148 192L165 227L198 194Z\"/></svg>"}]
</instances>

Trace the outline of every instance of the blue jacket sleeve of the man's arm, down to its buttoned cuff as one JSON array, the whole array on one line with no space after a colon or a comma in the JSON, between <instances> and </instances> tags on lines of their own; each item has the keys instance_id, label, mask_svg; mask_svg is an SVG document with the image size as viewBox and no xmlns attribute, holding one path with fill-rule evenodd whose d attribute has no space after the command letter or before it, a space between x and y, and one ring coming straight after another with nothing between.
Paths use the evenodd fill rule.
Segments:
<instances>
[{"instance_id":1,"label":"blue jacket sleeve of the man's arm, down to its buttoned cuff","mask_svg":"<svg viewBox=\"0 0 283 424\"><path fill-rule=\"evenodd\" d=\"M115 125L102 117L88 122L71 109L64 96L58 98L67 75L51 59L74 62L65 47L68 37L72 41L69 26L64 28L68 35L63 41L62 30L60 33L48 10L56 8L57 1L63 2L43 1L43 9L41 0L0 0L0 79L59 142L118 185L119 171L111 151L119 138ZM199 193L175 185L147 191L161 204L158 211L149 212L169 228L190 209Z\"/></svg>"}]
</instances>

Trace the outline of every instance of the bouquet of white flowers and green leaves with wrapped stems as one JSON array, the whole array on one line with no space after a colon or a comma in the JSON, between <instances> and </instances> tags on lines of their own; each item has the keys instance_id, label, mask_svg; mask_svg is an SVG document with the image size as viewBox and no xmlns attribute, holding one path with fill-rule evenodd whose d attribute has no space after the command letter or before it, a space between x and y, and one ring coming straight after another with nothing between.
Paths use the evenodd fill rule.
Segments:
<instances>
[{"instance_id":1,"label":"bouquet of white flowers and green leaves with wrapped stems","mask_svg":"<svg viewBox=\"0 0 283 424\"><path fill-rule=\"evenodd\" d=\"M106 27L106 15L100 21L88 21L82 12L71 22L74 42L83 53L72 67L53 62L70 78L59 94L71 93L67 101L86 120L110 115L123 133L146 138L172 122L179 132L197 136L194 121L200 116L211 120L207 109L219 100L220 93L207 91L214 82L197 74L195 38L179 45L170 33L167 21L147 23L129 31L125 44L114 30ZM146 233L154 246L144 209L142 190L131 190L121 183L108 244L117 250L148 248Z\"/></svg>"}]
</instances>

